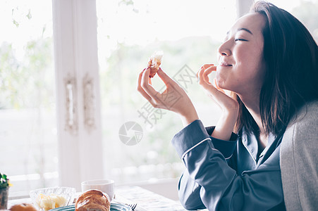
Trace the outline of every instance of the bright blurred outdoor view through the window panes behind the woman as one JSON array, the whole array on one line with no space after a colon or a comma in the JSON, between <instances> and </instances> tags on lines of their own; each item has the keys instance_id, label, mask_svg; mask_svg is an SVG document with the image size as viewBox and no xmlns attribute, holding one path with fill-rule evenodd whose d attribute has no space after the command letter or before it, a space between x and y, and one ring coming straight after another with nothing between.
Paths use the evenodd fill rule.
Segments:
<instances>
[{"instance_id":1,"label":"bright blurred outdoor view through the window panes behind the woman","mask_svg":"<svg viewBox=\"0 0 318 211\"><path fill-rule=\"evenodd\" d=\"M295 15L318 40L317 0L270 2ZM154 51L164 51L161 67L187 91L204 125L216 124L219 108L195 73L204 63L216 64L237 7L236 0L96 0L103 157L97 168L103 177L117 185L176 184L183 163L170 141L181 120L166 110L149 112L136 91L137 76ZM51 0L0 1L0 172L11 179L11 194L61 184L59 164L67 155L59 155L56 125L63 114L56 108L64 82L54 70L53 21ZM157 77L153 83L164 87ZM126 122L142 128L135 145L121 140Z\"/></svg>"}]
</instances>

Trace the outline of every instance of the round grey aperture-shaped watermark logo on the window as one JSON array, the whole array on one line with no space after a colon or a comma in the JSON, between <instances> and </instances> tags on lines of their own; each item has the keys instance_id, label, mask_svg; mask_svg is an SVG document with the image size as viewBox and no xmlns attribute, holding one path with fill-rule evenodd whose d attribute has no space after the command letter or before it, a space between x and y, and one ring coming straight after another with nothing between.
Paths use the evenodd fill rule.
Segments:
<instances>
[{"instance_id":1,"label":"round grey aperture-shaped watermark logo on the window","mask_svg":"<svg viewBox=\"0 0 318 211\"><path fill-rule=\"evenodd\" d=\"M142 127L137 122L126 122L118 132L119 139L126 145L133 146L139 143L143 136Z\"/></svg>"}]
</instances>

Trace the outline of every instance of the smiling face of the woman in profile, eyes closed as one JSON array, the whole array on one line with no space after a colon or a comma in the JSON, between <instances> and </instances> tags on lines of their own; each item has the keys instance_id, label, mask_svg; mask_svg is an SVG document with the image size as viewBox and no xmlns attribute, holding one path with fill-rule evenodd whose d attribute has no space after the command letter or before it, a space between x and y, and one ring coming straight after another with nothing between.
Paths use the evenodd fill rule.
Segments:
<instances>
[{"instance_id":1,"label":"smiling face of the woman in profile, eyes closed","mask_svg":"<svg viewBox=\"0 0 318 211\"><path fill-rule=\"evenodd\" d=\"M264 17L249 13L238 19L218 49L216 82L239 95L259 94L264 81ZM256 91L256 92L255 92Z\"/></svg>"}]
</instances>

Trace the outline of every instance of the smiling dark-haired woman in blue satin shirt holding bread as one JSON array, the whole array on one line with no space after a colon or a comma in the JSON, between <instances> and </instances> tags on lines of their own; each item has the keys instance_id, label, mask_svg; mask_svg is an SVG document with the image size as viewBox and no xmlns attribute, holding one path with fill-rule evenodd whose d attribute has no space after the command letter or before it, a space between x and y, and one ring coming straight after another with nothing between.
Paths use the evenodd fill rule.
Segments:
<instances>
[{"instance_id":1,"label":"smiling dark-haired woman in blue satin shirt holding bread","mask_svg":"<svg viewBox=\"0 0 318 211\"><path fill-rule=\"evenodd\" d=\"M186 170L179 198L188 210L314 210L318 203L318 48L307 29L257 2L203 65L199 83L222 109L204 128L181 87L164 73L160 94L140 72L138 91L155 108L181 115L172 143ZM208 75L216 71L214 85ZM231 96L224 92L231 91ZM181 94L176 103L165 101ZM177 96L175 96L177 97Z\"/></svg>"}]
</instances>

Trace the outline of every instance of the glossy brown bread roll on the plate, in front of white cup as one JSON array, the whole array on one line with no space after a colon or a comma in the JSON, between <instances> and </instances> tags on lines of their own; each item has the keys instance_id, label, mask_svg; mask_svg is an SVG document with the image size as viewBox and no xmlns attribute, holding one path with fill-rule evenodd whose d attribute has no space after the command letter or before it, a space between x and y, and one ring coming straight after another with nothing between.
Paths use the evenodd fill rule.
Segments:
<instances>
[{"instance_id":1,"label":"glossy brown bread roll on the plate, in front of white cup","mask_svg":"<svg viewBox=\"0 0 318 211\"><path fill-rule=\"evenodd\" d=\"M75 211L87 210L111 210L111 200L109 196L99 190L89 190L82 193L75 202Z\"/></svg>"}]
</instances>

